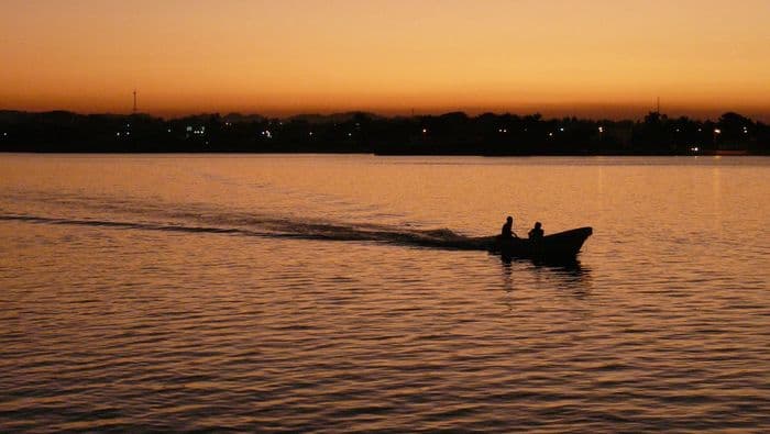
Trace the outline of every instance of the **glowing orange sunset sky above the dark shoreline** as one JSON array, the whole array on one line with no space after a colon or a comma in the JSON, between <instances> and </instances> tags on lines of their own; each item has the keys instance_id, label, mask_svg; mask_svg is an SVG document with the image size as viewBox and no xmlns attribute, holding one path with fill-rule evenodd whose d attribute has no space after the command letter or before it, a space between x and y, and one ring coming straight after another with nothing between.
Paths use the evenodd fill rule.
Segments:
<instances>
[{"instance_id":1,"label":"glowing orange sunset sky above the dark shoreline","mask_svg":"<svg viewBox=\"0 0 770 434\"><path fill-rule=\"evenodd\" d=\"M0 109L770 118L770 1L0 0Z\"/></svg>"}]
</instances>

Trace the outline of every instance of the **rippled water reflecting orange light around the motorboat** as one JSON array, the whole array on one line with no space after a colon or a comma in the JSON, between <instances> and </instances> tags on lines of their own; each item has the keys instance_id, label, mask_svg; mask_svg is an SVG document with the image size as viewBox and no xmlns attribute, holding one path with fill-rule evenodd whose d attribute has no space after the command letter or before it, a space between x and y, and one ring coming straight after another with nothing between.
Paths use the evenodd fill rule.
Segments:
<instances>
[{"instance_id":1,"label":"rippled water reflecting orange light around the motorboat","mask_svg":"<svg viewBox=\"0 0 770 434\"><path fill-rule=\"evenodd\" d=\"M0 431L767 432L769 191L754 157L0 155ZM421 242L508 214L594 234Z\"/></svg>"}]
</instances>

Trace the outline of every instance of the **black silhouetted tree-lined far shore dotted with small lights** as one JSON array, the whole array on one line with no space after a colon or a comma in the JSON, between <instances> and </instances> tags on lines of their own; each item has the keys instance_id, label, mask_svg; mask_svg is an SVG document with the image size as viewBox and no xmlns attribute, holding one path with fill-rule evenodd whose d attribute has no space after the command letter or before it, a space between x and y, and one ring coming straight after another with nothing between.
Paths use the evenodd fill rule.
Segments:
<instances>
[{"instance_id":1,"label":"black silhouetted tree-lined far shore dotted with small lights","mask_svg":"<svg viewBox=\"0 0 770 434\"><path fill-rule=\"evenodd\" d=\"M543 119L540 114L384 118L353 112L267 119L231 113L0 111L0 151L94 153L377 153L400 155L770 154L770 127L738 113L716 121Z\"/></svg>"}]
</instances>

